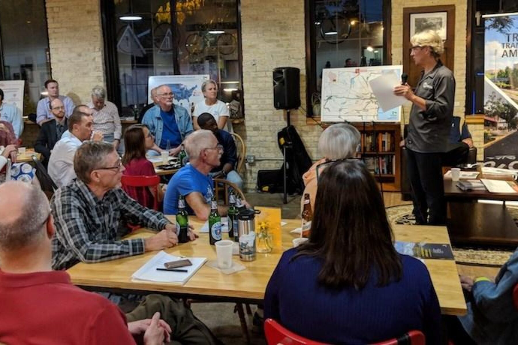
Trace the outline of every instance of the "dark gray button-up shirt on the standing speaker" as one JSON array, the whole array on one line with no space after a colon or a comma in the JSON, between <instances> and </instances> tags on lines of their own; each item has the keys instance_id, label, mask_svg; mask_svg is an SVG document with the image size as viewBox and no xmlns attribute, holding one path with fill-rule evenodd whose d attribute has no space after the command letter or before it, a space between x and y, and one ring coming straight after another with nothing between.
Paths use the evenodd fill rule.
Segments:
<instances>
[{"instance_id":1,"label":"dark gray button-up shirt on the standing speaker","mask_svg":"<svg viewBox=\"0 0 518 345\"><path fill-rule=\"evenodd\" d=\"M414 93L426 100L426 110L413 104L406 147L421 153L447 152L455 101L452 71L439 60L421 76Z\"/></svg>"}]
</instances>

